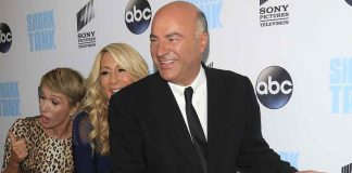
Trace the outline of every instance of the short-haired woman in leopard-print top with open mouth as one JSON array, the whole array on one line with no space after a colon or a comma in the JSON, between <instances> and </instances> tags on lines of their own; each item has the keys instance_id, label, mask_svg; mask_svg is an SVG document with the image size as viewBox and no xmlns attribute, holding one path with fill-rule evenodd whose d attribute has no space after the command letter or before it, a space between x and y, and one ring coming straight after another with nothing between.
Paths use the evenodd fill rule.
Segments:
<instances>
[{"instance_id":1,"label":"short-haired woman in leopard-print top with open mouth","mask_svg":"<svg viewBox=\"0 0 352 173\"><path fill-rule=\"evenodd\" d=\"M40 115L18 119L10 129L3 173L74 171L71 118L86 95L84 81L70 68L53 69L41 78Z\"/></svg>"}]
</instances>

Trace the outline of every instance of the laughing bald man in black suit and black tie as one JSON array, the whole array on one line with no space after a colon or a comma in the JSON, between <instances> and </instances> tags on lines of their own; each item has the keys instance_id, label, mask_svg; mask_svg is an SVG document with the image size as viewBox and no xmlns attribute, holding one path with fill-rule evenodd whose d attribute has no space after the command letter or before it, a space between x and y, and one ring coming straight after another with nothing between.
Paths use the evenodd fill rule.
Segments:
<instances>
[{"instance_id":1,"label":"laughing bald man in black suit and black tie","mask_svg":"<svg viewBox=\"0 0 352 173\"><path fill-rule=\"evenodd\" d=\"M191 3L156 12L150 50L159 71L110 101L113 172L297 172L264 141L250 80L201 63L208 40L205 16Z\"/></svg>"}]
</instances>

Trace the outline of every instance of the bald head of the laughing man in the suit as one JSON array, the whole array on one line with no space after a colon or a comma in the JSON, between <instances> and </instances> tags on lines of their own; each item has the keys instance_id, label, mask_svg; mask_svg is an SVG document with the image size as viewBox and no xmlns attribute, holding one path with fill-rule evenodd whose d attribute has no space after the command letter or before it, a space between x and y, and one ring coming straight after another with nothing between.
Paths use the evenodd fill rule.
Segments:
<instances>
[{"instance_id":1,"label":"bald head of the laughing man in the suit","mask_svg":"<svg viewBox=\"0 0 352 173\"><path fill-rule=\"evenodd\" d=\"M204 14L183 1L162 6L152 22L150 51L166 81L189 85L197 77L208 44Z\"/></svg>"}]
</instances>

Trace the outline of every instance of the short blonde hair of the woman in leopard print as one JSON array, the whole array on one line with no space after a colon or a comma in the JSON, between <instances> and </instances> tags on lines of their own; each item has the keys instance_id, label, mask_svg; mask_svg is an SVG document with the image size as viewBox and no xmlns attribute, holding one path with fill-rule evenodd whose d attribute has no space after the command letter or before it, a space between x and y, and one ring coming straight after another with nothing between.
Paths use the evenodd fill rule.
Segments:
<instances>
[{"instance_id":1,"label":"short blonde hair of the woman in leopard print","mask_svg":"<svg viewBox=\"0 0 352 173\"><path fill-rule=\"evenodd\" d=\"M70 107L74 107L85 97L85 79L71 68L55 68L41 77L39 90L48 86L55 93L62 93L68 98Z\"/></svg>"}]
</instances>

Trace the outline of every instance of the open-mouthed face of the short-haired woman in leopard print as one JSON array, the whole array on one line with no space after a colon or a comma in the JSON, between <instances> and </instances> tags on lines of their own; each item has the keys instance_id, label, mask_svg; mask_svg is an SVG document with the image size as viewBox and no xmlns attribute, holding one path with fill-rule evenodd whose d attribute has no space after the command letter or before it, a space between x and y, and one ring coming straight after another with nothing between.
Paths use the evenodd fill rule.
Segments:
<instances>
[{"instance_id":1,"label":"open-mouthed face of the short-haired woman in leopard print","mask_svg":"<svg viewBox=\"0 0 352 173\"><path fill-rule=\"evenodd\" d=\"M40 122L43 129L63 129L70 120L70 104L66 95L42 86L39 93Z\"/></svg>"}]
</instances>

